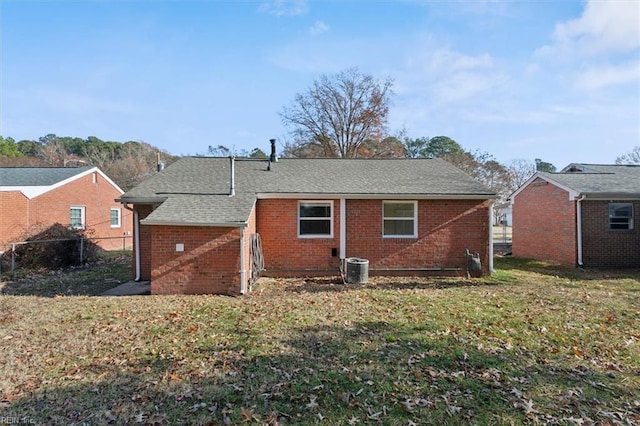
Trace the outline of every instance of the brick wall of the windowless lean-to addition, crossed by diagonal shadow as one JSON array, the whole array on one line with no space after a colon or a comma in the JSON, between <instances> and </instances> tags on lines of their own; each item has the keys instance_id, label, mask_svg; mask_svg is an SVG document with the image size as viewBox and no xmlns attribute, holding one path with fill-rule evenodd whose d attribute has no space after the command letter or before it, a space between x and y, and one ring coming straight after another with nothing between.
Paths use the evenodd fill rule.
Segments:
<instances>
[{"instance_id":1,"label":"brick wall of the windowless lean-to addition, crossed by diagonal shadow","mask_svg":"<svg viewBox=\"0 0 640 426\"><path fill-rule=\"evenodd\" d=\"M240 294L239 228L150 227L152 294Z\"/></svg>"}]
</instances>

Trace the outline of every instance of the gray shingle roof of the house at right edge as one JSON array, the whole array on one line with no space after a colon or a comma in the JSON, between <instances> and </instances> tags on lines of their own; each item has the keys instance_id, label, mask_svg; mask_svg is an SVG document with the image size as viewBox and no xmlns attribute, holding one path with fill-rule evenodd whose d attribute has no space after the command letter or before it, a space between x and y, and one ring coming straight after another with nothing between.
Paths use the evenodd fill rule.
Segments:
<instances>
[{"instance_id":1,"label":"gray shingle roof of the house at right edge","mask_svg":"<svg viewBox=\"0 0 640 426\"><path fill-rule=\"evenodd\" d=\"M640 165L573 164L583 172L540 173L584 195L640 197ZM565 168L565 170L569 167Z\"/></svg>"}]
</instances>

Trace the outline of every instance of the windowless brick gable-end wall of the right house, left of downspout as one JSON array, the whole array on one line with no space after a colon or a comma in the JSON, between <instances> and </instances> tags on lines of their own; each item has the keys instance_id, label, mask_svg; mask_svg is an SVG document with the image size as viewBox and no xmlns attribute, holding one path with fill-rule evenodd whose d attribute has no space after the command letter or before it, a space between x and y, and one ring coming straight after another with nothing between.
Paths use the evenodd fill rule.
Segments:
<instances>
[{"instance_id":1,"label":"windowless brick gable-end wall of the right house, left of downspout","mask_svg":"<svg viewBox=\"0 0 640 426\"><path fill-rule=\"evenodd\" d=\"M531 183L514 199L512 241L514 256L575 266L575 201L548 182Z\"/></svg>"}]
</instances>

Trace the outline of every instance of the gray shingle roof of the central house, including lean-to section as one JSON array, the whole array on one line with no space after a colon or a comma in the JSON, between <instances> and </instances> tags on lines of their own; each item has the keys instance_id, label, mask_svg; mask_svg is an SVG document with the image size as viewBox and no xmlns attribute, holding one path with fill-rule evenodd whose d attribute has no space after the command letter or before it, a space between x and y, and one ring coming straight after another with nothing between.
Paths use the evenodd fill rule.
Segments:
<instances>
[{"instance_id":1,"label":"gray shingle roof of the central house, including lean-to section","mask_svg":"<svg viewBox=\"0 0 640 426\"><path fill-rule=\"evenodd\" d=\"M162 203L146 223L244 223L261 196L493 198L494 193L440 159L236 159L229 197L228 158L185 157L120 198ZM166 200L166 201L164 201Z\"/></svg>"}]
</instances>

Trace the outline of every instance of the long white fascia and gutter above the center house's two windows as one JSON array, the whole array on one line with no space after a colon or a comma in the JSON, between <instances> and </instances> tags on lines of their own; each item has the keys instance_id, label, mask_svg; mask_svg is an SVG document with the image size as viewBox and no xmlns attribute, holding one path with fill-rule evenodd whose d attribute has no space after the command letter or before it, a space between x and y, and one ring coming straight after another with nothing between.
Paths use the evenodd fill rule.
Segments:
<instances>
[{"instance_id":1,"label":"long white fascia and gutter above the center house's two windows","mask_svg":"<svg viewBox=\"0 0 640 426\"><path fill-rule=\"evenodd\" d=\"M258 200L311 199L311 200L493 200L495 194L314 194L314 193L258 193Z\"/></svg>"}]
</instances>

